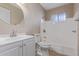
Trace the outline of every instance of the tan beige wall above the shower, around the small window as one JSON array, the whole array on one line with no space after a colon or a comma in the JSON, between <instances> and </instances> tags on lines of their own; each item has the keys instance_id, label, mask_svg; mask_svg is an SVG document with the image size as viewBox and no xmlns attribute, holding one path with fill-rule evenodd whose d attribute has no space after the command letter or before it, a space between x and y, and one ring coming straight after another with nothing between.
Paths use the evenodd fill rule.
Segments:
<instances>
[{"instance_id":1,"label":"tan beige wall above the shower, around the small window","mask_svg":"<svg viewBox=\"0 0 79 59\"><path fill-rule=\"evenodd\" d=\"M53 8L46 11L46 20L50 20L51 15L56 13L66 12L67 18L73 17L74 15L74 5L73 4L67 4L61 7Z\"/></svg>"}]
</instances>

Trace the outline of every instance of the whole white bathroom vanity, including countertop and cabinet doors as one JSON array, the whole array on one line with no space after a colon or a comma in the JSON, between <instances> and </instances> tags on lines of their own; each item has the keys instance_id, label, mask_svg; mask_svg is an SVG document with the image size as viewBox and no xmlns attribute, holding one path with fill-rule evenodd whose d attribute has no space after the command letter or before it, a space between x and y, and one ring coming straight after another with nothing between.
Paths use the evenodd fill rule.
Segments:
<instances>
[{"instance_id":1,"label":"whole white bathroom vanity, including countertop and cabinet doors","mask_svg":"<svg viewBox=\"0 0 79 59\"><path fill-rule=\"evenodd\" d=\"M0 56L35 56L33 36L0 37Z\"/></svg>"}]
</instances>

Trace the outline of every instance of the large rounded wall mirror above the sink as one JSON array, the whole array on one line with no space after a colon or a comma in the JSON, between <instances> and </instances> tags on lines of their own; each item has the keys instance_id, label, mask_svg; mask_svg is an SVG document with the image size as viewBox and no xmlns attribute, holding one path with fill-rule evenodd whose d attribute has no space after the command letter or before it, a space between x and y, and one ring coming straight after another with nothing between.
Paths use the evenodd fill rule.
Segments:
<instances>
[{"instance_id":1,"label":"large rounded wall mirror above the sink","mask_svg":"<svg viewBox=\"0 0 79 59\"><path fill-rule=\"evenodd\" d=\"M0 21L10 25L17 25L23 18L23 11L18 4L0 3Z\"/></svg>"}]
</instances>

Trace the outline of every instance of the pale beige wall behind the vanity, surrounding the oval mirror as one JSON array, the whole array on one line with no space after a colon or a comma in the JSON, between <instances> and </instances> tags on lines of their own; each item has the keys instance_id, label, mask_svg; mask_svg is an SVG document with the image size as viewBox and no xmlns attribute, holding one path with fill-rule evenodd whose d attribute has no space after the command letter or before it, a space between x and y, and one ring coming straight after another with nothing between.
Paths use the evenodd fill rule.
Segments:
<instances>
[{"instance_id":1,"label":"pale beige wall behind the vanity, surrounding the oval mirror","mask_svg":"<svg viewBox=\"0 0 79 59\"><path fill-rule=\"evenodd\" d=\"M23 4L21 8L24 12L24 20L14 26L0 21L0 34L7 34L16 29L17 33L34 34L40 32L40 20L44 16L44 11L39 4Z\"/></svg>"}]
</instances>

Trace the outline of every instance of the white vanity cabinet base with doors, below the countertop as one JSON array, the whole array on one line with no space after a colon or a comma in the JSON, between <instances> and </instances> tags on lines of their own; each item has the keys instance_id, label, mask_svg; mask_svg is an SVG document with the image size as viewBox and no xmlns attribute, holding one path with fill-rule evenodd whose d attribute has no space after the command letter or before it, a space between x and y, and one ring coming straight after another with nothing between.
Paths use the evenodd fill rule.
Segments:
<instances>
[{"instance_id":1,"label":"white vanity cabinet base with doors, below the countertop","mask_svg":"<svg viewBox=\"0 0 79 59\"><path fill-rule=\"evenodd\" d=\"M0 45L0 56L35 56L34 37Z\"/></svg>"}]
</instances>

